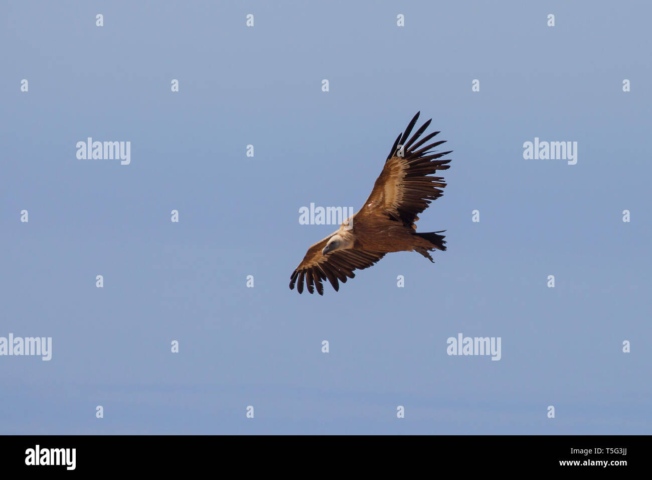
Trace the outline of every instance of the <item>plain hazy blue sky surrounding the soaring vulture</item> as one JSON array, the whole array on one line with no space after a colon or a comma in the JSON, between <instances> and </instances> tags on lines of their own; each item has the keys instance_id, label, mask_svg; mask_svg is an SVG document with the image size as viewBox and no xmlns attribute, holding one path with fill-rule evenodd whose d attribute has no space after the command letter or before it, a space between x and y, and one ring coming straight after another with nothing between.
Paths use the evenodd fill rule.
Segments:
<instances>
[{"instance_id":1,"label":"plain hazy blue sky surrounding the soaring vulture","mask_svg":"<svg viewBox=\"0 0 652 480\"><path fill-rule=\"evenodd\" d=\"M651 13L3 3L0 336L53 347L0 357L0 432L651 433ZM418 223L449 249L290 291L336 229L299 208L357 210L417 110L454 150ZM130 165L77 159L88 136L130 141ZM535 137L577 164L524 159ZM501 360L447 355L460 332Z\"/></svg>"}]
</instances>

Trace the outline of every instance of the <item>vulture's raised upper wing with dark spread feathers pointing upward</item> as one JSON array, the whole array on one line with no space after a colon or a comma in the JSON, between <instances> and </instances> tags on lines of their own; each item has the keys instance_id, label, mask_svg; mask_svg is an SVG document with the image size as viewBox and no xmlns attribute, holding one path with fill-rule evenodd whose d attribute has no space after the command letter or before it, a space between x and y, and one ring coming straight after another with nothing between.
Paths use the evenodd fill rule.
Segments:
<instances>
[{"instance_id":1,"label":"vulture's raised upper wing with dark spread feathers pointing upward","mask_svg":"<svg viewBox=\"0 0 652 480\"><path fill-rule=\"evenodd\" d=\"M409 122L404 133L400 133L396 137L396 142L385 161L385 167L376 179L371 195L357 215L387 214L391 219L402 221L407 227L416 229L415 221L419 219L417 215L426 210L432 200L443 195L441 189L446 186L442 182L443 177L429 175L434 174L437 170L449 168L447 163L451 161L450 159L437 159L448 155L452 150L434 153L432 149L446 141L428 143L428 140L439 133L438 131L419 140L432 119L426 121L408 139L417 123L419 113L421 112L417 112Z\"/></svg>"}]
</instances>

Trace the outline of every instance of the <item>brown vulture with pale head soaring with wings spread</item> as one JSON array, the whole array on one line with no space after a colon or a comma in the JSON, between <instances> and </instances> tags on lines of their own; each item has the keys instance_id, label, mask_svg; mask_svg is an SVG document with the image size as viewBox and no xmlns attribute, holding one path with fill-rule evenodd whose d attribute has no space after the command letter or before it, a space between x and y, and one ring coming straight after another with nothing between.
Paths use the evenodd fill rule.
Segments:
<instances>
[{"instance_id":1,"label":"brown vulture with pale head soaring with wings spread","mask_svg":"<svg viewBox=\"0 0 652 480\"><path fill-rule=\"evenodd\" d=\"M353 270L376 264L385 253L417 251L434 263L428 252L446 249L445 237L440 235L445 230L416 231L417 215L426 210L432 200L441 197L441 189L446 186L443 177L430 175L450 167L447 165L450 159L438 159L452 152L432 150L445 142L428 143L438 131L419 140L432 119L421 125L408 140L420 113L417 112L405 131L396 137L385 167L363 207L342 222L337 231L308 249L290 276L290 289L296 284L297 291L303 293L305 284L308 292L314 293L316 289L323 295L322 280L328 280L338 291L338 280L346 283L347 278L355 277Z\"/></svg>"}]
</instances>

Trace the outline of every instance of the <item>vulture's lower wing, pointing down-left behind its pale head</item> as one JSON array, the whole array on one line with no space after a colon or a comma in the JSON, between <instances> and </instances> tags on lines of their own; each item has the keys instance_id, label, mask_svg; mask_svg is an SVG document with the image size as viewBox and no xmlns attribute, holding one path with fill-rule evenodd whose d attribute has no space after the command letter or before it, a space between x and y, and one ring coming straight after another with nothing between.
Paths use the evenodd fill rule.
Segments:
<instances>
[{"instance_id":1,"label":"vulture's lower wing, pointing down-left behind its pale head","mask_svg":"<svg viewBox=\"0 0 652 480\"><path fill-rule=\"evenodd\" d=\"M294 288L297 284L297 291L303 293L304 280L308 292L314 293L317 289L319 295L323 295L324 287L322 280L331 282L335 291L340 289L338 280L346 283L346 278L354 278L353 270L356 268L363 269L372 266L385 256L385 253L366 251L354 248L334 250L326 255L321 255L321 251L328 243L333 232L321 242L317 242L308 248L303 261L297 266L290 276L289 287Z\"/></svg>"}]
</instances>

